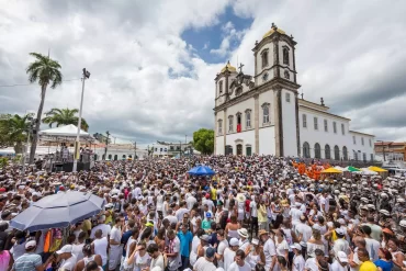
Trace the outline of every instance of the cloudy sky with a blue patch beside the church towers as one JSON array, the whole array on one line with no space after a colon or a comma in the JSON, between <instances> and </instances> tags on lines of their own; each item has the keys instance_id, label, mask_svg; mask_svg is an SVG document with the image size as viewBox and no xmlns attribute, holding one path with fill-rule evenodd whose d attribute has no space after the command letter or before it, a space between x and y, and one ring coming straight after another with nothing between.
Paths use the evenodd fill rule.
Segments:
<instances>
[{"instance_id":1,"label":"cloudy sky with a blue patch beside the church towers","mask_svg":"<svg viewBox=\"0 0 406 271\"><path fill-rule=\"evenodd\" d=\"M351 129L406 140L406 1L0 0L0 86L26 84L30 52L67 80L45 111L78 108L91 133L139 144L214 126L214 77L229 59L253 72L251 48L274 22L297 41L298 83ZM40 88L0 87L0 113L36 112Z\"/></svg>"}]
</instances>

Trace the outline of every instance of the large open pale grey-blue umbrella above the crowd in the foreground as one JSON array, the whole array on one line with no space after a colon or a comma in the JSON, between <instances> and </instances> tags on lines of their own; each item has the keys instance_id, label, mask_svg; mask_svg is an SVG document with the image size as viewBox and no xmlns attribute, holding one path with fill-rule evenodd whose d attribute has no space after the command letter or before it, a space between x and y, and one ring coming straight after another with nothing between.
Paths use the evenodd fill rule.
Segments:
<instances>
[{"instance_id":1,"label":"large open pale grey-blue umbrella above the crowd in the foreground","mask_svg":"<svg viewBox=\"0 0 406 271\"><path fill-rule=\"evenodd\" d=\"M99 214L103 206L104 200L91 193L59 192L34 202L11 219L10 226L32 232L67 227Z\"/></svg>"}]
</instances>

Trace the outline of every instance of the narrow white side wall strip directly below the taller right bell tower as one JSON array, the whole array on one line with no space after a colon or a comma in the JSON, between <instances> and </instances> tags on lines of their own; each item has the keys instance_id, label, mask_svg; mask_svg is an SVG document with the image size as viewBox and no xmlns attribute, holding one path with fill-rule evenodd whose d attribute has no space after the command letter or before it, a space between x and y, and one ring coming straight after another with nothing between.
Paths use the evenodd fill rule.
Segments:
<instances>
[{"instance_id":1,"label":"narrow white side wall strip directly below the taller right bell tower","mask_svg":"<svg viewBox=\"0 0 406 271\"><path fill-rule=\"evenodd\" d=\"M283 155L297 156L295 95L282 90ZM286 97L289 95L289 97Z\"/></svg>"}]
</instances>

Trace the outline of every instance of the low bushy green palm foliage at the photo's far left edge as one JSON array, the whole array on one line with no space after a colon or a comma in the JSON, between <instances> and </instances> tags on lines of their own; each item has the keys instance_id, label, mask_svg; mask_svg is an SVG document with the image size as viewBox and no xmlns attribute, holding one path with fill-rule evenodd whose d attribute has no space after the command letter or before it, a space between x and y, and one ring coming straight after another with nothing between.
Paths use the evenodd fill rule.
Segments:
<instances>
[{"instance_id":1,"label":"low bushy green palm foliage at the photo's far left edge","mask_svg":"<svg viewBox=\"0 0 406 271\"><path fill-rule=\"evenodd\" d=\"M33 114L24 116L10 115L0 120L0 146L14 147L15 154L22 154L24 150L24 143L26 142L26 133L29 131L29 117Z\"/></svg>"}]
</instances>

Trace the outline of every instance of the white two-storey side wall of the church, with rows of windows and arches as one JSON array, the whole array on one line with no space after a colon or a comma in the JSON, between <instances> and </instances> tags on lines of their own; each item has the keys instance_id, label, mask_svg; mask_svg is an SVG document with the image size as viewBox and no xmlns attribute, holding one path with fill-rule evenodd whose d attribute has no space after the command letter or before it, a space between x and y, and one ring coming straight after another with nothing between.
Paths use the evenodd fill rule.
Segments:
<instances>
[{"instance_id":1,"label":"white two-storey side wall of the church, with rows of windows and arches","mask_svg":"<svg viewBox=\"0 0 406 271\"><path fill-rule=\"evenodd\" d=\"M307 127L303 127L303 114L306 114ZM318 129L315 129L314 126L314 117L318 120ZM348 134L348 129L346 128L345 135L341 133L341 123L345 123L346 127L348 127L348 121L334 117L323 113L316 113L313 111L307 111L300 109L298 111L298 118L300 118L300 133L301 133L301 156L303 156L303 144L307 142L311 147L311 157L315 157L315 144L318 143L320 145L320 155L322 158L325 157L325 146L328 144L330 146L330 158L335 158L334 148L337 145L339 147L339 155L342 158L342 148L346 146L348 155L351 155L351 142L350 136ZM324 120L327 120L328 124L328 132L325 132L324 127ZM334 133L332 123L336 122L337 125L337 133Z\"/></svg>"}]
</instances>

